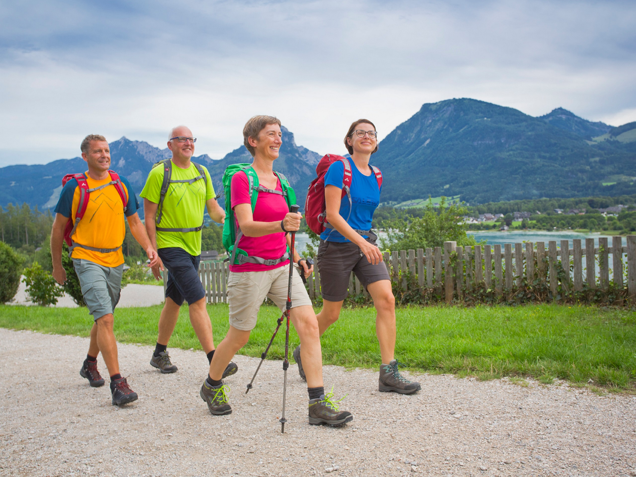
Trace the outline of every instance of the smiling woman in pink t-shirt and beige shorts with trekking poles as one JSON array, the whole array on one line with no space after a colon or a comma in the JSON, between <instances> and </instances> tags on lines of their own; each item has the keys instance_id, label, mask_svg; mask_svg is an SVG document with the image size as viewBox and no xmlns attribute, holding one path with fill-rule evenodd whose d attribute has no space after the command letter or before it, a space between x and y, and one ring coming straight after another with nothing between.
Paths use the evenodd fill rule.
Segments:
<instances>
[{"instance_id":1,"label":"smiling woman in pink t-shirt and beige shorts with trekking poles","mask_svg":"<svg viewBox=\"0 0 636 477\"><path fill-rule=\"evenodd\" d=\"M289 280L286 252L291 240L287 232L298 230L301 219L301 214L289 212L282 195L282 184L273 172L273 162L279 156L282 144L280 121L273 116L254 116L245 124L243 138L245 147L254 157L251 167L262 187L252 212L247 174L239 171L232 177L229 199L242 232L237 247L247 252L247 256L265 259L270 265L255 261L239 261L230 265L230 329L214 352L210 375L201 388L201 397L213 415L232 413L228 404L228 387L221 377L232 357L247 343L265 297L270 298L281 311L285 309ZM295 250L293 259L296 263L300 262L298 265L305 276L312 272ZM350 422L353 420L351 413L338 410L338 404L331 401L333 394L324 392L318 321L298 273L293 274L291 301L290 318L300 338L303 368L307 376L309 423L342 425Z\"/></svg>"}]
</instances>

